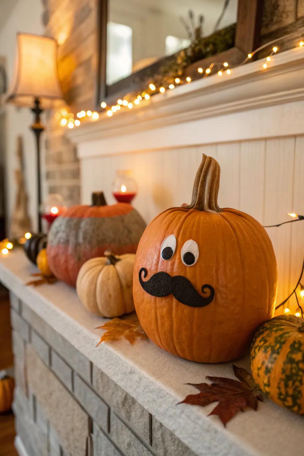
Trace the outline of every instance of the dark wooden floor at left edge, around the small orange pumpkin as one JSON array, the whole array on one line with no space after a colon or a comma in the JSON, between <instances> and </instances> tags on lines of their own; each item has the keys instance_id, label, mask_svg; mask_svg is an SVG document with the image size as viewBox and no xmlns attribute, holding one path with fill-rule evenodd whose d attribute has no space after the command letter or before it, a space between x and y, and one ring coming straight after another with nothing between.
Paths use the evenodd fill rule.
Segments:
<instances>
[{"instance_id":1,"label":"dark wooden floor at left edge, around the small orange pumpkin","mask_svg":"<svg viewBox=\"0 0 304 456\"><path fill-rule=\"evenodd\" d=\"M13 365L10 335L10 301L0 289L0 370ZM15 423L12 412L0 414L0 456L17 456L14 447Z\"/></svg>"}]
</instances>

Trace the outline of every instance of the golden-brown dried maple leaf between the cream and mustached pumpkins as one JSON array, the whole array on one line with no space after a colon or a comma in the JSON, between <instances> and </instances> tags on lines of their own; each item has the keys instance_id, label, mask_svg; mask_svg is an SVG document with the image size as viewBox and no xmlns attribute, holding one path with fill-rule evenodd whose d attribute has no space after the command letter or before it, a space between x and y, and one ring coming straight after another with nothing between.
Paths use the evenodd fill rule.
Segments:
<instances>
[{"instance_id":1,"label":"golden-brown dried maple leaf between the cream and mustached pumpkins","mask_svg":"<svg viewBox=\"0 0 304 456\"><path fill-rule=\"evenodd\" d=\"M107 321L107 323L104 323L102 326L98 326L96 329L107 330L101 336L101 339L96 347L98 347L101 342L117 341L121 337L127 339L131 345L134 344L138 337L142 339L147 338L147 335L139 324L137 316L133 316L126 320L122 320L121 318L113 318L113 320Z\"/></svg>"}]
</instances>

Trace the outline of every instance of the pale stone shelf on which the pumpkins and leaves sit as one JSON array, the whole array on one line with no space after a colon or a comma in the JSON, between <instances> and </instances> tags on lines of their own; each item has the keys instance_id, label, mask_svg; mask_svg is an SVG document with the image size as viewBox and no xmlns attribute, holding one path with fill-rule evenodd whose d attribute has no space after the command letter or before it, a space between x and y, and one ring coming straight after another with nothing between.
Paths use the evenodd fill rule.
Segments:
<instances>
[{"instance_id":1,"label":"pale stone shelf on which the pumpkins and leaves sit","mask_svg":"<svg viewBox=\"0 0 304 456\"><path fill-rule=\"evenodd\" d=\"M269 400L258 411L237 414L226 429L216 416L207 417L215 404L207 407L177 405L195 389L187 382L200 383L206 375L233 378L232 363L199 364L176 358L139 340L103 343L101 330L107 321L89 314L76 291L63 283L25 286L36 268L21 251L0 259L0 281L63 335L74 347L102 369L120 387L167 426L201 456L299 456L304 454L304 417L278 407ZM247 358L236 362L248 369Z\"/></svg>"}]
</instances>

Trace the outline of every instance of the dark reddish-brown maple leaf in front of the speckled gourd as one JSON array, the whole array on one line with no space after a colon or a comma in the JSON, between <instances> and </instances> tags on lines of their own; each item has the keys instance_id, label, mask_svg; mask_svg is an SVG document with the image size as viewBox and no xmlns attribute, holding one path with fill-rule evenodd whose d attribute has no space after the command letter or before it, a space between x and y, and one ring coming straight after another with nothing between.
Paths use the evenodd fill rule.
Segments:
<instances>
[{"instance_id":1,"label":"dark reddish-brown maple leaf in front of the speckled gourd","mask_svg":"<svg viewBox=\"0 0 304 456\"><path fill-rule=\"evenodd\" d=\"M209 377L213 383L186 383L200 391L198 394L189 394L179 404L209 405L218 401L209 415L218 415L226 426L233 416L244 411L245 407L254 410L258 408L258 399L263 400L262 392L254 383L252 375L243 368L233 365L234 375L240 380L225 377Z\"/></svg>"}]
</instances>

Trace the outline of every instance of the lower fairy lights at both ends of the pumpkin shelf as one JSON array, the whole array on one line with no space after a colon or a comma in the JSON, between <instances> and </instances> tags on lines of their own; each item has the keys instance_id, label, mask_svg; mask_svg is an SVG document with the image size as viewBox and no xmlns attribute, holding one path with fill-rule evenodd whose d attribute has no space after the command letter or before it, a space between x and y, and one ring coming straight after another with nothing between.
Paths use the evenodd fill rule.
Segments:
<instances>
[{"instance_id":1,"label":"lower fairy lights at both ends of the pumpkin shelf","mask_svg":"<svg viewBox=\"0 0 304 456\"><path fill-rule=\"evenodd\" d=\"M304 215L298 215L298 214L295 214L294 212L289 212L288 215L290 217L292 217L292 220L287 220L286 222L277 223L275 225L264 225L264 228L276 228L276 227L285 225L285 223L294 223L294 222L299 222L301 220L302 221L304 220ZM10 240L10 239L6 238L3 241L0 241L0 252L1 252L2 256L7 256L15 246L20 246L22 244L25 244L26 240L30 239L31 236L32 236L31 233L25 233L24 236L22 236L21 238L18 238L16 240ZM294 315L297 317L304 318L304 311L303 311L304 301L303 301L303 304L301 304L299 301L299 297L301 298L301 300L304 300L304 285L301 283L303 274L304 274L304 260L303 260L299 280L298 280L296 286L294 287L294 290L290 293L290 295L286 299L284 299L284 301L282 301L280 304L278 304L278 306L276 306L275 310L284 306L284 313L291 314L289 307L285 307L285 304L294 295L295 299L297 301L297 305L298 305L298 308L295 311ZM300 291L299 291L299 297L298 297L297 293L298 293L299 288L300 288Z\"/></svg>"}]
</instances>

